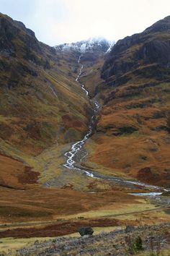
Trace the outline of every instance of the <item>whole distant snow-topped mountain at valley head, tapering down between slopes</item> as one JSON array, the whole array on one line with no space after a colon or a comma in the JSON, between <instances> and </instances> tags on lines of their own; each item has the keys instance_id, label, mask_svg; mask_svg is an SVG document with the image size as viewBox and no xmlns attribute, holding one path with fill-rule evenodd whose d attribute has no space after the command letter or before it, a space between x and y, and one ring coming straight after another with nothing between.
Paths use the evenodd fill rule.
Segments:
<instances>
[{"instance_id":1,"label":"whole distant snow-topped mountain at valley head, tapering down between slopes","mask_svg":"<svg viewBox=\"0 0 170 256\"><path fill-rule=\"evenodd\" d=\"M109 42L105 38L89 38L89 40L55 46L55 50L58 59L65 60L65 65L68 64L69 74L79 72L77 69L79 66L75 66L78 61L79 64L84 65L81 82L86 84L90 97L94 97L97 85L101 82L100 69L104 64L105 55L113 44L114 42Z\"/></svg>"}]
</instances>

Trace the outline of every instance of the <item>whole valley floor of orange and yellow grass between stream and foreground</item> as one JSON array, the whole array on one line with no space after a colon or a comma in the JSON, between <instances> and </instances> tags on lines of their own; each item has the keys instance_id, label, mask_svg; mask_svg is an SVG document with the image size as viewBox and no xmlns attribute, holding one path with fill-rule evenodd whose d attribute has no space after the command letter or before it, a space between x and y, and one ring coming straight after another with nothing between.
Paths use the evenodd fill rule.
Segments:
<instances>
[{"instance_id":1,"label":"whole valley floor of orange and yellow grass between stream and foreground","mask_svg":"<svg viewBox=\"0 0 170 256\"><path fill-rule=\"evenodd\" d=\"M0 156L1 169L11 171L6 184L0 186L1 237L58 236L71 234L84 225L138 225L140 214L157 209L145 200L129 195L126 188L124 191L113 186L108 191L89 193L67 186L63 189L42 187L37 183L35 171L25 169L18 160ZM32 180L25 171L31 174ZM89 189L94 189L95 182L94 179ZM149 218L145 223L148 221Z\"/></svg>"}]
</instances>

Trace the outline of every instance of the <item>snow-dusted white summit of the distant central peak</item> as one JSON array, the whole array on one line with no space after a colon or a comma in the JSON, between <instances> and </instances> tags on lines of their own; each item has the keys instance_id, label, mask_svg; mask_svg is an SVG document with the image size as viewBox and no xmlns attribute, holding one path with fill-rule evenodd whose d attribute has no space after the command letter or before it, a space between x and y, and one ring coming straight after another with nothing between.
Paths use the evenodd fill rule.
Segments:
<instances>
[{"instance_id":1,"label":"snow-dusted white summit of the distant central peak","mask_svg":"<svg viewBox=\"0 0 170 256\"><path fill-rule=\"evenodd\" d=\"M105 38L89 38L89 40L81 40L76 43L63 43L55 46L55 49L60 51L79 51L84 54L94 51L107 52L112 45L113 43Z\"/></svg>"}]
</instances>

